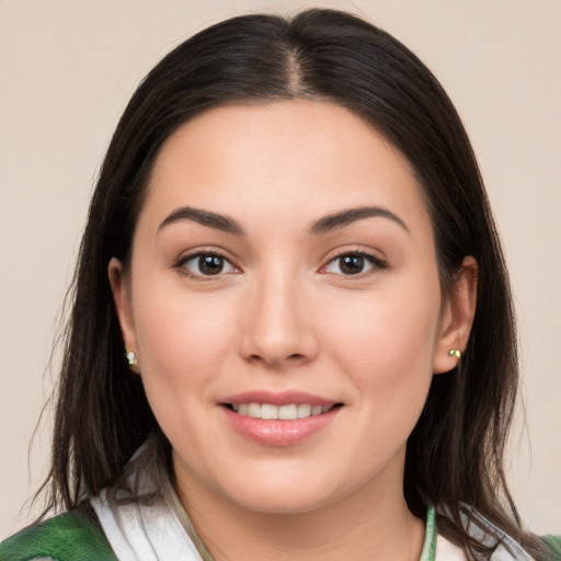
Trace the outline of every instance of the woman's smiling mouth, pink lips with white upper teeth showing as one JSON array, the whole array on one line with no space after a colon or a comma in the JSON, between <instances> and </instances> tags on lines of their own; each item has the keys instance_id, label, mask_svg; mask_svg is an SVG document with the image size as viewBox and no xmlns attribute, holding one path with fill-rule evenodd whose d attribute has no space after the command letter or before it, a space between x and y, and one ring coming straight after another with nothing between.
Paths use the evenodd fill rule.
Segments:
<instances>
[{"instance_id":1,"label":"woman's smiling mouth, pink lips with white upper teeth showing","mask_svg":"<svg viewBox=\"0 0 561 561\"><path fill-rule=\"evenodd\" d=\"M327 428L343 405L295 391L240 393L220 404L237 433L264 446L291 446L308 439Z\"/></svg>"}]
</instances>

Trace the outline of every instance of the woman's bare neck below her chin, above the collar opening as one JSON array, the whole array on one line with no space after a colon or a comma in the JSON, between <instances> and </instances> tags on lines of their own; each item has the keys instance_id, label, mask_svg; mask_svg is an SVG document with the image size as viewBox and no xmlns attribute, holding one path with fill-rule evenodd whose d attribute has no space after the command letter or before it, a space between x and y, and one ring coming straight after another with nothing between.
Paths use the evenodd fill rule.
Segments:
<instances>
[{"instance_id":1,"label":"woman's bare neck below her chin, above the collar opening","mask_svg":"<svg viewBox=\"0 0 561 561\"><path fill-rule=\"evenodd\" d=\"M393 489L382 485L382 492L368 483L329 505L290 514L251 511L199 485L176 486L215 561L417 561L421 556L424 524L409 511L401 480Z\"/></svg>"}]
</instances>

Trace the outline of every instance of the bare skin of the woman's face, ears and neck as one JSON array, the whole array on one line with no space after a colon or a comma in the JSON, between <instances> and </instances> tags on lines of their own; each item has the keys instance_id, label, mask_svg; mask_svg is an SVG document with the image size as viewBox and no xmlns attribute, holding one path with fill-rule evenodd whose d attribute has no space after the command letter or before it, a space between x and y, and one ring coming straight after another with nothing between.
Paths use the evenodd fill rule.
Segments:
<instances>
[{"instance_id":1,"label":"bare skin of the woman's face, ears and neck","mask_svg":"<svg viewBox=\"0 0 561 561\"><path fill-rule=\"evenodd\" d=\"M186 206L244 233L169 218ZM394 218L310 232L357 207ZM222 273L204 276L201 252L224 255ZM371 260L345 274L339 256L357 252ZM453 294L440 294L409 162L343 107L219 107L167 140L130 270L114 259L110 278L173 448L179 496L216 560L419 559L424 525L403 497L405 444L433 375L466 346L476 276L466 257ZM343 405L302 442L265 446L220 405L253 390Z\"/></svg>"}]
</instances>

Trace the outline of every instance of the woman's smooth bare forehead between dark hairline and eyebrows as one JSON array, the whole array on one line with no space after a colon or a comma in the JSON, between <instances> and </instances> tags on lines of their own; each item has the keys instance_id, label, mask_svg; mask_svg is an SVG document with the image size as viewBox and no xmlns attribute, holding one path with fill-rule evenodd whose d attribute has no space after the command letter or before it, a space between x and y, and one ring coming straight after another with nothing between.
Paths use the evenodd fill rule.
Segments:
<instances>
[{"instance_id":1,"label":"woman's smooth bare forehead between dark hairline and eyebrows","mask_svg":"<svg viewBox=\"0 0 561 561\"><path fill-rule=\"evenodd\" d=\"M283 101L209 110L182 125L157 158L141 215L184 205L316 218L378 205L427 219L409 161L348 110ZM141 216L142 218L142 216Z\"/></svg>"}]
</instances>

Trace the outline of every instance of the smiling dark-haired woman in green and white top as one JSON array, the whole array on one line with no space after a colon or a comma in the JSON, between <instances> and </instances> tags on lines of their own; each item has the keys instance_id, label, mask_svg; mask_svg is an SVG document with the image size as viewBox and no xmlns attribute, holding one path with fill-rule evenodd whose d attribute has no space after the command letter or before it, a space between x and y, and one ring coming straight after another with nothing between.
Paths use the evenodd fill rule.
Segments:
<instances>
[{"instance_id":1,"label":"smiling dark-haired woman in green and white top","mask_svg":"<svg viewBox=\"0 0 561 561\"><path fill-rule=\"evenodd\" d=\"M1 559L553 558L504 479L515 329L477 163L385 32L253 15L174 49L75 288L46 482L69 512Z\"/></svg>"}]
</instances>

